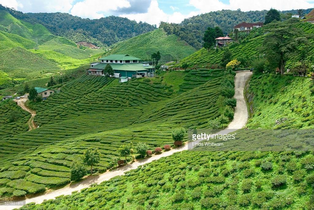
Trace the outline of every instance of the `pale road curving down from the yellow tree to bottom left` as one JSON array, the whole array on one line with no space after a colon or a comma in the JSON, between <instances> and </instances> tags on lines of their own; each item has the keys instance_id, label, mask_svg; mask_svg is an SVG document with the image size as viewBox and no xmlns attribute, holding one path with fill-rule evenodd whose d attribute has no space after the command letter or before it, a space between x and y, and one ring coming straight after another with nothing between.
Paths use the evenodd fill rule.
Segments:
<instances>
[{"instance_id":1,"label":"pale road curving down from the yellow tree to bottom left","mask_svg":"<svg viewBox=\"0 0 314 210\"><path fill-rule=\"evenodd\" d=\"M243 96L243 90L245 86L245 81L250 77L251 74L252 73L250 71L240 71L236 73L235 98L237 100L237 106L236 106L235 116L234 116L233 121L231 121L231 123L229 124L229 126L219 133L229 133L232 130L237 130L245 126L246 121L248 119L248 112L247 112L246 103ZM170 151L163 152L159 155L154 155L151 158L139 160L132 164L127 164L121 168L111 170L97 176L88 177L87 179L81 182L70 184L61 189L47 192L46 194L43 194L37 197L28 198L26 199L26 203L30 203L30 202L41 203L44 200L54 199L55 197L60 196L60 195L70 195L73 191L79 191L83 188L89 187L89 185L91 184L94 184L94 183L99 184L115 176L124 175L124 172L129 171L131 169L136 169L140 165L150 163L154 160L160 159L161 157L167 157L176 152L187 150L188 148L190 148L190 146L191 144L185 144L185 146L183 147L171 149ZM20 206L2 206L2 207L3 208L1 209L3 210L12 210L14 208L19 208Z\"/></svg>"}]
</instances>

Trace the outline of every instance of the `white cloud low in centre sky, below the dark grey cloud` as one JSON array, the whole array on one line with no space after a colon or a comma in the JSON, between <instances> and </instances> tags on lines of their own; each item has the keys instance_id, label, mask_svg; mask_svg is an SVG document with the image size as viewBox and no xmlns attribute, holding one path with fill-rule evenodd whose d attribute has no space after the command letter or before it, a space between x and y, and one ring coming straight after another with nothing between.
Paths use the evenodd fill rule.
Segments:
<instances>
[{"instance_id":1,"label":"white cloud low in centre sky, below the dark grey cloud","mask_svg":"<svg viewBox=\"0 0 314 210\"><path fill-rule=\"evenodd\" d=\"M156 24L159 26L160 21L169 23L181 23L184 18L191 17L192 13L184 15L180 12L174 12L173 14L166 14L159 8L157 0L152 0L147 13L138 14L121 14L120 17L125 17L131 20L136 20L137 22L143 21L149 24Z\"/></svg>"}]
</instances>

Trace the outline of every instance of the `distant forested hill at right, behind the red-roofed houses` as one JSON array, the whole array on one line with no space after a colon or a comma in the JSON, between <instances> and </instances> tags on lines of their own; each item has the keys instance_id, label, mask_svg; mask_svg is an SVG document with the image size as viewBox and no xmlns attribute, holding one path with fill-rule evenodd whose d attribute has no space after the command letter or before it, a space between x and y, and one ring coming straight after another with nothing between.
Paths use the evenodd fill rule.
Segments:
<instances>
[{"instance_id":1,"label":"distant forested hill at right, behind the red-roofed houses","mask_svg":"<svg viewBox=\"0 0 314 210\"><path fill-rule=\"evenodd\" d=\"M303 9L302 15L306 15L312 10ZM243 21L264 22L267 10L242 12L238 10L221 10L184 19L180 24L169 24L162 22L160 27L168 34L176 34L191 46L200 49L203 34L208 27L219 26L224 34L228 34L234 27ZM281 19L291 18L291 14L298 14L298 10L281 11Z\"/></svg>"}]
</instances>

